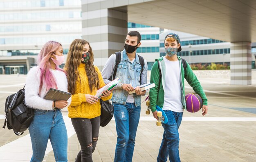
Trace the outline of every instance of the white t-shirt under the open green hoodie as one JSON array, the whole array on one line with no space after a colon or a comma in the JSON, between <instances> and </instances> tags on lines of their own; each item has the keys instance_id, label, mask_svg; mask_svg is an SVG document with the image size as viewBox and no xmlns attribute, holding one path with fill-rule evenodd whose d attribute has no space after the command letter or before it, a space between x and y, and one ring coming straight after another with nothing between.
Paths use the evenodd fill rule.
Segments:
<instances>
[{"instance_id":1,"label":"white t-shirt under the open green hoodie","mask_svg":"<svg viewBox=\"0 0 256 162\"><path fill-rule=\"evenodd\" d=\"M179 60L169 61L164 57L166 66L164 85L164 106L163 110L183 112L181 101L181 74Z\"/></svg>"}]
</instances>

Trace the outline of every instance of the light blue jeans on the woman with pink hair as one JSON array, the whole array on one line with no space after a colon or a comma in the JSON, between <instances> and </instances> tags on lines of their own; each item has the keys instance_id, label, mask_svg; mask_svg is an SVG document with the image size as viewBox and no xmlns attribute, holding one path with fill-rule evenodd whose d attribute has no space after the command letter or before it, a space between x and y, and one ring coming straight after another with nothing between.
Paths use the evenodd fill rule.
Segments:
<instances>
[{"instance_id":1,"label":"light blue jeans on the woman with pink hair","mask_svg":"<svg viewBox=\"0 0 256 162\"><path fill-rule=\"evenodd\" d=\"M61 109L53 111L35 110L29 125L33 155L30 162L41 162L50 139L56 162L67 162L67 129Z\"/></svg>"}]
</instances>

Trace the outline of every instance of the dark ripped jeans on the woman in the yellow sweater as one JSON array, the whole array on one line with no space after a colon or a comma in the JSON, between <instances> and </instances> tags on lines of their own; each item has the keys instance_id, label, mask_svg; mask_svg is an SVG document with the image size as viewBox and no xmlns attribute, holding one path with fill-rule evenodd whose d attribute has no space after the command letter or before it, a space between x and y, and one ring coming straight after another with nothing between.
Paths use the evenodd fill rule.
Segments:
<instances>
[{"instance_id":1,"label":"dark ripped jeans on the woman in the yellow sweater","mask_svg":"<svg viewBox=\"0 0 256 162\"><path fill-rule=\"evenodd\" d=\"M100 116L92 119L71 118L81 146L75 162L92 162L92 153L95 150L99 136L100 120Z\"/></svg>"}]
</instances>

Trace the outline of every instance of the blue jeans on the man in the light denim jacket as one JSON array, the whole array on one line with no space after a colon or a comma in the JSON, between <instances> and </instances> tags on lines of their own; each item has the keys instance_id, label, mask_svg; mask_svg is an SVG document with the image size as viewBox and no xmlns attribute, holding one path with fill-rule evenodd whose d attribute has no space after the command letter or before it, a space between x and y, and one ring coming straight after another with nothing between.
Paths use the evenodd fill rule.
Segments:
<instances>
[{"instance_id":1,"label":"blue jeans on the man in the light denim jacket","mask_svg":"<svg viewBox=\"0 0 256 162\"><path fill-rule=\"evenodd\" d=\"M131 162L135 145L135 136L139 124L140 106L135 103L122 105L113 102L117 129L115 162Z\"/></svg>"}]
</instances>

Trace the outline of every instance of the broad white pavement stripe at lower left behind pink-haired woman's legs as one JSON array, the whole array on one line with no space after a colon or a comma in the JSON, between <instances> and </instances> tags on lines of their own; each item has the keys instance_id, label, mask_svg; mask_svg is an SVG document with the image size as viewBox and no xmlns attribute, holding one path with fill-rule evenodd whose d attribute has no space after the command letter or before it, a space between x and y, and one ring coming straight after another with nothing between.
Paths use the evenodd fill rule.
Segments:
<instances>
[{"instance_id":1,"label":"broad white pavement stripe at lower left behind pink-haired woman's legs","mask_svg":"<svg viewBox=\"0 0 256 162\"><path fill-rule=\"evenodd\" d=\"M70 138L75 134L74 127L71 123L70 118L68 118L67 116L63 116L63 119L67 128L67 138ZM52 145L50 141L48 141L45 155L47 155L50 151L52 151ZM32 146L29 134L0 147L0 162L27 162L30 161L31 156Z\"/></svg>"}]
</instances>

